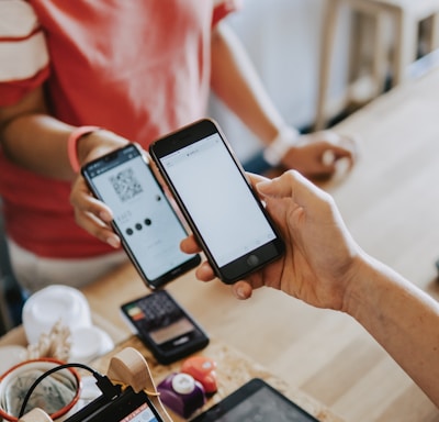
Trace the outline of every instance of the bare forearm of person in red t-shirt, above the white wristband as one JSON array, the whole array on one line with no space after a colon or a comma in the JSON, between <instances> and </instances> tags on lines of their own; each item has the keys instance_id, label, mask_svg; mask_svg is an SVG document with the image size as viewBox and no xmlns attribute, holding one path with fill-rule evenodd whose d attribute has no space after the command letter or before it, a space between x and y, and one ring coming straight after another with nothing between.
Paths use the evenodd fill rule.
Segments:
<instances>
[{"instance_id":1,"label":"bare forearm of person in red t-shirt, above the white wristband","mask_svg":"<svg viewBox=\"0 0 439 422\"><path fill-rule=\"evenodd\" d=\"M236 35L223 23L212 35L212 89L259 138L285 125Z\"/></svg>"}]
</instances>

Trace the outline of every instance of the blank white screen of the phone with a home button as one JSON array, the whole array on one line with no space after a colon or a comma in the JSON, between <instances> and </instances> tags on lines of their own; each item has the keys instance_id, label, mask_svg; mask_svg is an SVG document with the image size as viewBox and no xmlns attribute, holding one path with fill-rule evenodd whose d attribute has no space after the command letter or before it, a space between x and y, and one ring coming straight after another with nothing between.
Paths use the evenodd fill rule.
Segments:
<instances>
[{"instance_id":1,"label":"blank white screen of the phone with a home button","mask_svg":"<svg viewBox=\"0 0 439 422\"><path fill-rule=\"evenodd\" d=\"M160 162L219 267L277 237L218 134Z\"/></svg>"}]
</instances>

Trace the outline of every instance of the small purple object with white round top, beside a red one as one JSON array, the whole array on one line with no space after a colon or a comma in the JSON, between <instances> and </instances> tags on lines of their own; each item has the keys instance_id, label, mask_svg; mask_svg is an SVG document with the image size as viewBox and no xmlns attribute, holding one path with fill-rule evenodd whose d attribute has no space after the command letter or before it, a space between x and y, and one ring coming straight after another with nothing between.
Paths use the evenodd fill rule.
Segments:
<instances>
[{"instance_id":1,"label":"small purple object with white round top, beside a red one","mask_svg":"<svg viewBox=\"0 0 439 422\"><path fill-rule=\"evenodd\" d=\"M203 386L189 374L169 375L157 386L157 390L162 403L184 419L206 401Z\"/></svg>"}]
</instances>

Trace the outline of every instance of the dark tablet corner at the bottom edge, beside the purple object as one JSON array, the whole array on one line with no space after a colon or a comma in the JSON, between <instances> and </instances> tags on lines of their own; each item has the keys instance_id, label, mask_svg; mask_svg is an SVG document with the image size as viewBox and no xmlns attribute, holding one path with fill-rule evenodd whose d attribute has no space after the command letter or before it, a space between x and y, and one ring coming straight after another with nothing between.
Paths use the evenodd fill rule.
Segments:
<instances>
[{"instance_id":1,"label":"dark tablet corner at the bottom edge, beside the purple object","mask_svg":"<svg viewBox=\"0 0 439 422\"><path fill-rule=\"evenodd\" d=\"M280 391L254 378L192 422L318 422Z\"/></svg>"}]
</instances>

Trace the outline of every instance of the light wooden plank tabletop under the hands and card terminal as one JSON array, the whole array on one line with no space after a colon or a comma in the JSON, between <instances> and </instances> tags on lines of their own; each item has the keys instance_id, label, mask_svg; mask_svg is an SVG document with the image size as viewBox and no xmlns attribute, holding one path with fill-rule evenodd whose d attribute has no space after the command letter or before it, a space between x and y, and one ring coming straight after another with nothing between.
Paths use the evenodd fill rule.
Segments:
<instances>
[{"instance_id":1,"label":"light wooden plank tabletop under the hands and card terminal","mask_svg":"<svg viewBox=\"0 0 439 422\"><path fill-rule=\"evenodd\" d=\"M325 185L359 244L436 298L438 110L439 70L369 104L337 127L361 135L358 165L348 177ZM250 362L256 373L263 368L282 379L293 398L306 398L301 403L311 403L309 410L323 403L320 409L326 406L346 422L439 421L438 409L345 314L311 308L271 289L237 301L227 286L202 284L192 273L168 289L214 338L213 347L227 345L232 356ZM122 341L128 332L119 306L147 289L128 266L85 292L95 319Z\"/></svg>"}]
</instances>

